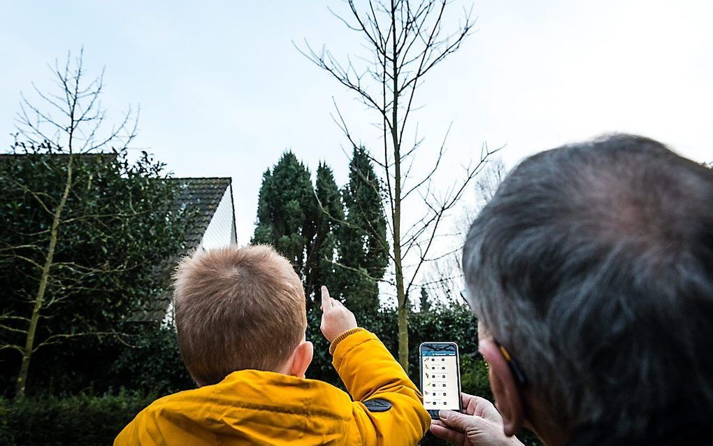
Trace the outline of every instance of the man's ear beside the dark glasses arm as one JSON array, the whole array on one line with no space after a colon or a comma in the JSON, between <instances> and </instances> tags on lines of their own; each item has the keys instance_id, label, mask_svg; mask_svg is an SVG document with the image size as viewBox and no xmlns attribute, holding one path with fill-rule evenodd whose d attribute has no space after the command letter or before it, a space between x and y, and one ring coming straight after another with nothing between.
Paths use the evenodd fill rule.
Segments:
<instances>
[{"instance_id":1,"label":"man's ear beside the dark glasses arm","mask_svg":"<svg viewBox=\"0 0 713 446\"><path fill-rule=\"evenodd\" d=\"M523 427L523 395L512 370L493 339L481 339L478 350L490 369L490 382L498 410L503 415L505 435L515 435Z\"/></svg>"}]
</instances>

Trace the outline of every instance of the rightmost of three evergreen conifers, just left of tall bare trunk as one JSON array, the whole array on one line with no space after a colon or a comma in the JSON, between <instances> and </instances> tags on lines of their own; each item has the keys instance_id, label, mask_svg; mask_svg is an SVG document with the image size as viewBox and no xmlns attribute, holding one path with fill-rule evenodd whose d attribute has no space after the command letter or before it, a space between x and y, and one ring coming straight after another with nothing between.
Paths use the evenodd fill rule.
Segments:
<instances>
[{"instance_id":1,"label":"rightmost of three evergreen conifers, just left of tall bare trunk","mask_svg":"<svg viewBox=\"0 0 713 446\"><path fill-rule=\"evenodd\" d=\"M389 246L381 184L363 147L352 153L342 200L346 213L338 231L342 295L354 313L373 313L379 308L379 280L389 263Z\"/></svg>"}]
</instances>

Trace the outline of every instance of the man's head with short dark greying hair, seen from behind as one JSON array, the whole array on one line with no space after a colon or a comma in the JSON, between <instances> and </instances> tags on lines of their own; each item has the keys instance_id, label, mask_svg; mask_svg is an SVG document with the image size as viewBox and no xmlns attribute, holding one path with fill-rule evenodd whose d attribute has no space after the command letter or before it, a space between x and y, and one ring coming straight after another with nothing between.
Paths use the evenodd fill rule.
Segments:
<instances>
[{"instance_id":1,"label":"man's head with short dark greying hair, seen from behind","mask_svg":"<svg viewBox=\"0 0 713 446\"><path fill-rule=\"evenodd\" d=\"M713 407L710 168L627 135L530 156L473 222L463 270L506 431L532 421L528 398L570 433L631 436Z\"/></svg>"}]
</instances>

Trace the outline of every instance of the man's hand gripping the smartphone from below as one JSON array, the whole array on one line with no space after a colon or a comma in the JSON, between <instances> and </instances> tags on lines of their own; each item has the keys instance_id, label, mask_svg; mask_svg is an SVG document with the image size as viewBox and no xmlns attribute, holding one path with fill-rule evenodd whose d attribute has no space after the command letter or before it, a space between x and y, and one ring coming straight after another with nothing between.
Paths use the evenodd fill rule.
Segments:
<instances>
[{"instance_id":1,"label":"man's hand gripping the smartphone from below","mask_svg":"<svg viewBox=\"0 0 713 446\"><path fill-rule=\"evenodd\" d=\"M467 393L461 397L466 413L441 410L441 420L431 422L436 437L463 446L522 446L517 438L503 433L503 417L490 401Z\"/></svg>"}]
</instances>

